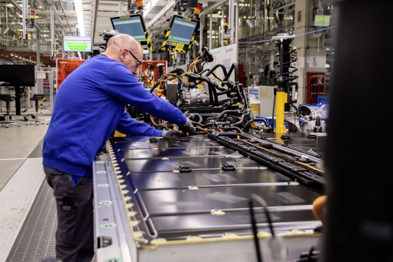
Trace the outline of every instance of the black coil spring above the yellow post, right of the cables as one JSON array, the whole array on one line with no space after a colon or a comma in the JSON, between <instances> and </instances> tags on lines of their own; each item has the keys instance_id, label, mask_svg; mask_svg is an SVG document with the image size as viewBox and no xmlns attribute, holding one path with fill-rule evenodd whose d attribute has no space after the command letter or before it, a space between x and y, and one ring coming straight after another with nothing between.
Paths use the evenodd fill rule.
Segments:
<instances>
[{"instance_id":1,"label":"black coil spring above the yellow post, right of the cables","mask_svg":"<svg viewBox=\"0 0 393 262\"><path fill-rule=\"evenodd\" d=\"M289 42L287 42L287 41L284 41L282 44L283 44L282 79L285 82L289 82L289 81L295 80L299 77L299 75L292 74L293 72L296 72L298 70L298 68L291 64L291 63L297 61L298 58L290 55L292 52L295 52L297 50L297 48L294 46L289 46ZM279 48L279 53L274 55L274 57L276 57L276 58L277 57L280 58L280 45L281 45L280 41L275 42L275 46ZM275 67L280 67L280 65L281 65L280 63L281 63L281 61L278 64L276 64ZM292 70L289 70L289 69L292 69ZM279 77L279 76L280 76L280 74L278 74L277 77Z\"/></svg>"}]
</instances>

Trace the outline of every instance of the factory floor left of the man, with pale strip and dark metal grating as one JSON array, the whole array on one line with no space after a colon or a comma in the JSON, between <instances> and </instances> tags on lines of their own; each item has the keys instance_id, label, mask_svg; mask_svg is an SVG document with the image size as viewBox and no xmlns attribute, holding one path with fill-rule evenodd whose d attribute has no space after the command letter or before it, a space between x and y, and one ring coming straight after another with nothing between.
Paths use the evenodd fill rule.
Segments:
<instances>
[{"instance_id":1,"label":"factory floor left of the man, with pale strip and dark metal grating","mask_svg":"<svg viewBox=\"0 0 393 262\"><path fill-rule=\"evenodd\" d=\"M28 113L35 114L33 111ZM39 114L39 118L47 121L50 117L50 112ZM48 125L26 125L23 116L12 118L20 127L0 127L0 262L42 261L55 256L53 234L56 232L56 212L48 212L54 203L49 203L53 199L50 188L44 188L41 156L42 140ZM45 192L43 189L46 189L47 196L39 196ZM38 201L40 197L41 202ZM28 221L39 220L42 215L46 216L45 221ZM34 232L48 225L50 228L40 232L41 236ZM31 238L32 234L35 238ZM39 247L43 240L47 242L47 250Z\"/></svg>"}]
</instances>

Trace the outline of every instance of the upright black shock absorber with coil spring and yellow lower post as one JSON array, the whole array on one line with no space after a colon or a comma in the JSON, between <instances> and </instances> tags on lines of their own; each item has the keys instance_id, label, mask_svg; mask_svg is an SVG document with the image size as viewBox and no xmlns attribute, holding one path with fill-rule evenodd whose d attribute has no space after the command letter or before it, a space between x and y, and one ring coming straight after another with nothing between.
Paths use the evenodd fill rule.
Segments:
<instances>
[{"instance_id":1,"label":"upright black shock absorber with coil spring and yellow lower post","mask_svg":"<svg viewBox=\"0 0 393 262\"><path fill-rule=\"evenodd\" d=\"M278 48L278 53L275 57L279 57L279 64L276 67L280 67L280 73L277 76L276 133L286 133L284 112L288 112L290 105L297 102L298 83L293 82L293 80L299 76L292 74L298 70L296 66L292 65L297 58L291 56L291 53L296 51L296 48L290 46L294 38L294 35L287 33L280 33L272 38L275 47ZM295 91L293 91L293 86Z\"/></svg>"}]
</instances>

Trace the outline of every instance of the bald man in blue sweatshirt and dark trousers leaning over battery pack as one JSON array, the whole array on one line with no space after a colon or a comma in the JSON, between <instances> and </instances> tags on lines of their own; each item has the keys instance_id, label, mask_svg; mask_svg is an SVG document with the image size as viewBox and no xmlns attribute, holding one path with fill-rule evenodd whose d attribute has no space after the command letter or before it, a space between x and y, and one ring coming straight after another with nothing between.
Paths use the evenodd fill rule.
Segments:
<instances>
[{"instance_id":1,"label":"bald man in blue sweatshirt and dark trousers leaning over battery pack","mask_svg":"<svg viewBox=\"0 0 393 262\"><path fill-rule=\"evenodd\" d=\"M149 93L136 74L142 59L138 42L113 36L103 55L88 59L59 87L42 151L46 179L57 203L56 258L88 261L94 255L92 161L113 130L130 136L171 135L133 120L130 104L148 114L195 128L181 111Z\"/></svg>"}]
</instances>

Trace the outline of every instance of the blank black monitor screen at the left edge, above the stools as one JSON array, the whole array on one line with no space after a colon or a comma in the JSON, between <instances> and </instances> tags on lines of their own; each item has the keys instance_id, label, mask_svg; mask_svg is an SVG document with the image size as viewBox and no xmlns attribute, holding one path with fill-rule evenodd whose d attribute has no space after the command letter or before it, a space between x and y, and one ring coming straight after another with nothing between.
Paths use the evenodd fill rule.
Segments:
<instances>
[{"instance_id":1,"label":"blank black monitor screen at the left edge, above the stools","mask_svg":"<svg viewBox=\"0 0 393 262\"><path fill-rule=\"evenodd\" d=\"M1 87L34 87L34 65L0 64Z\"/></svg>"}]
</instances>

